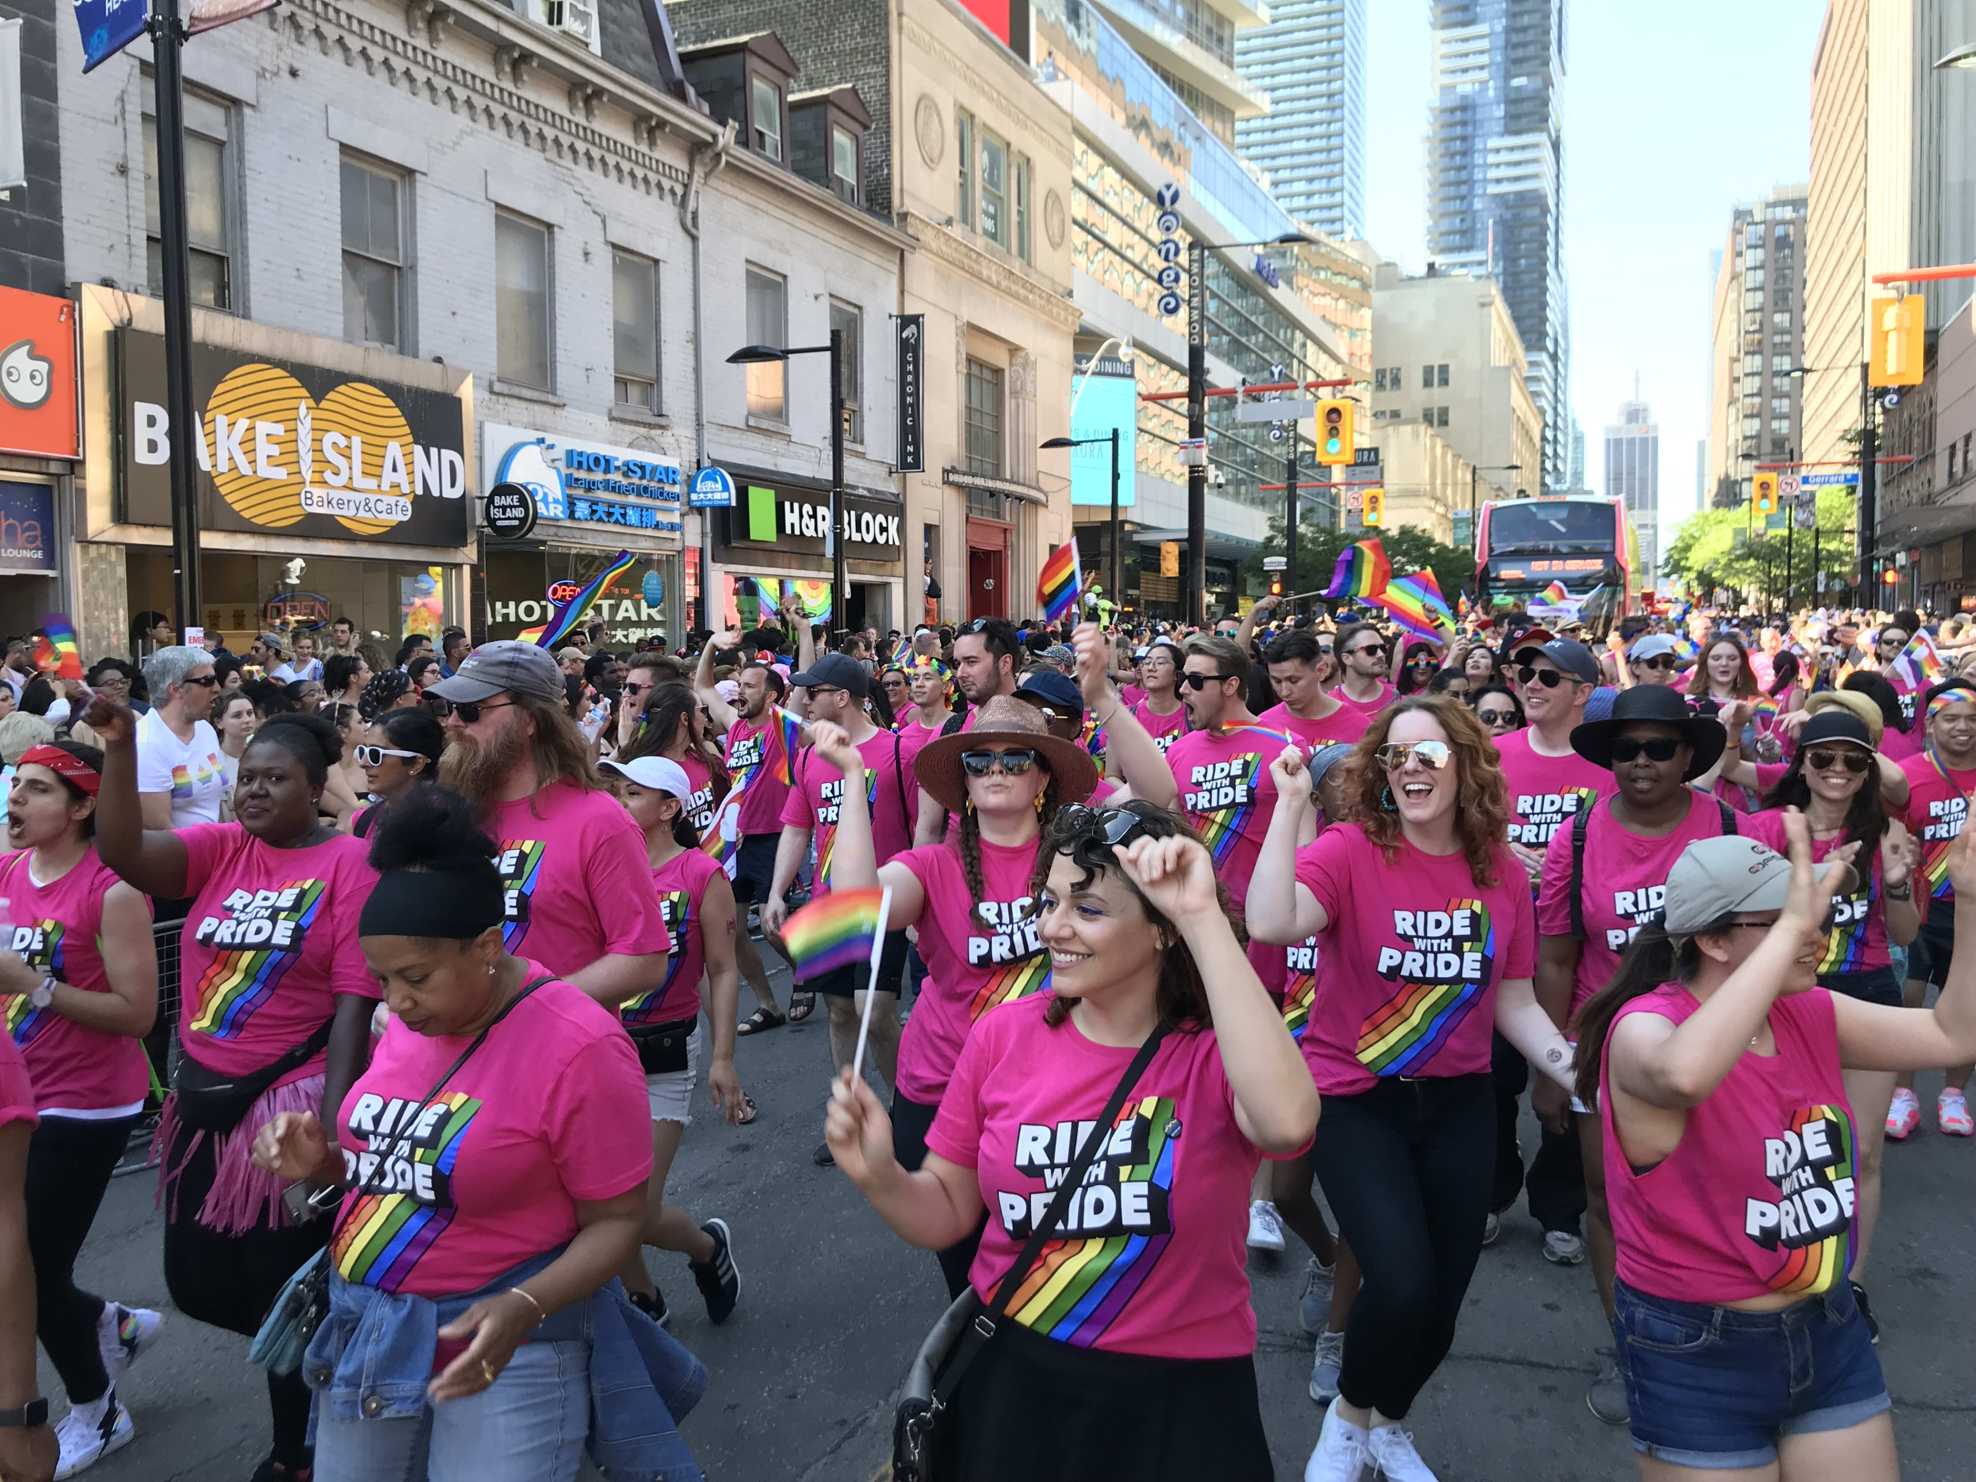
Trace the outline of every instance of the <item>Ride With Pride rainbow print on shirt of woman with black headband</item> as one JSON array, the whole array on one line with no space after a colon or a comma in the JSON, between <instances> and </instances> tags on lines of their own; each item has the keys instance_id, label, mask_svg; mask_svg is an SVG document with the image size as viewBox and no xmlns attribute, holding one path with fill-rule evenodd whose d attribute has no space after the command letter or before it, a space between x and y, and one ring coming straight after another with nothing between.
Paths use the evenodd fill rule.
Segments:
<instances>
[{"instance_id":1,"label":"Ride With Pride rainbow print on shirt of woman with black headband","mask_svg":"<svg viewBox=\"0 0 1976 1482\"><path fill-rule=\"evenodd\" d=\"M383 1112L385 1122L370 1132L366 1124L377 1112ZM393 1168L389 1174L377 1174L370 1158L356 1158L350 1178L403 1190L366 1194L344 1207L336 1235L330 1237L336 1275L356 1286L375 1286L385 1292L405 1284L411 1269L453 1223L453 1168L460 1156L460 1142L466 1140L466 1128L478 1112L480 1101L464 1091L449 1091L427 1107L379 1097L358 1099L350 1128L370 1132L371 1150L381 1144ZM407 1120L411 1120L409 1130L395 1130Z\"/></svg>"}]
</instances>

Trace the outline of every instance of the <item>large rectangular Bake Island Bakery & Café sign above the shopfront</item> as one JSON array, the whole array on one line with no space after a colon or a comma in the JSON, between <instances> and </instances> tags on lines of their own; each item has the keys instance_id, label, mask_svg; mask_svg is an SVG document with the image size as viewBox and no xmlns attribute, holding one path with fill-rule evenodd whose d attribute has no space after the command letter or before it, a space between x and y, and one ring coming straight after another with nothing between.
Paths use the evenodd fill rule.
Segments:
<instances>
[{"instance_id":1,"label":"large rectangular Bake Island Bakery & Caf\u00e9 sign above the shopfront","mask_svg":"<svg viewBox=\"0 0 1976 1482\"><path fill-rule=\"evenodd\" d=\"M121 328L117 354L121 518L170 526L182 449L164 407L164 338ZM207 528L466 543L460 397L206 344L192 350L192 397Z\"/></svg>"}]
</instances>

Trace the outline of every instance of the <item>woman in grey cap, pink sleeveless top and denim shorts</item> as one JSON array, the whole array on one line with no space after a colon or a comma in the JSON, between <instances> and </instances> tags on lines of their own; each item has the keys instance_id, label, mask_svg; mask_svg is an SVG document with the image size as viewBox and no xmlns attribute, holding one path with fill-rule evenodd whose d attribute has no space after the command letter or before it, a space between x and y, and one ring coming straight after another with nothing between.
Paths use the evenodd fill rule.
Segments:
<instances>
[{"instance_id":1,"label":"woman in grey cap, pink sleeveless top and denim shorts","mask_svg":"<svg viewBox=\"0 0 1976 1482\"><path fill-rule=\"evenodd\" d=\"M1818 988L1855 846L1814 865L1796 812L1784 838L1788 862L1749 838L1691 844L1664 921L1579 1018L1577 1095L1605 1120L1618 1241L1612 1334L1654 1482L1899 1470L1846 1280L1857 1144L1844 1073L1976 1057L1976 960L1950 966L1935 1010ZM1948 871L1976 893L1970 838Z\"/></svg>"}]
</instances>

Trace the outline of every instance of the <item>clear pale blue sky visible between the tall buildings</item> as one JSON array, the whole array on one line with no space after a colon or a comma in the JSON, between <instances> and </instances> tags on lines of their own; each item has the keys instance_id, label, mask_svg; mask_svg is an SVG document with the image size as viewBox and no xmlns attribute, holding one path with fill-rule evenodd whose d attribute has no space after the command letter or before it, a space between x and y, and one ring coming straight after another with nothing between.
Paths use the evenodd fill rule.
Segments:
<instances>
[{"instance_id":1,"label":"clear pale blue sky visible between the tall buildings","mask_svg":"<svg viewBox=\"0 0 1976 1482\"><path fill-rule=\"evenodd\" d=\"M1727 239L1737 202L1810 174L1824 10L1824 0L1569 0L1559 119L1571 409L1597 490L1603 429L1638 371L1660 423L1664 526L1693 510L1695 441L1707 435L1709 251ZM1365 69L1367 233L1419 271L1427 0L1369 0Z\"/></svg>"}]
</instances>

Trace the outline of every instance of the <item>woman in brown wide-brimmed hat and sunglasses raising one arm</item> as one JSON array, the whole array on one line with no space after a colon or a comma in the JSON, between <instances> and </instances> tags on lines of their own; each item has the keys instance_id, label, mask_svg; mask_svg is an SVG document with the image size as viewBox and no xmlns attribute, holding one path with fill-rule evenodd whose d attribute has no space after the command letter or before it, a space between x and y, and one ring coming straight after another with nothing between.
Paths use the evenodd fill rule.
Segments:
<instances>
[{"instance_id":1,"label":"woman in brown wide-brimmed hat and sunglasses raising one arm","mask_svg":"<svg viewBox=\"0 0 1976 1482\"><path fill-rule=\"evenodd\" d=\"M850 775L864 767L838 727L818 727L816 753ZM838 814L836 889L891 887L885 931L917 927L927 978L899 1033L899 1081L891 1103L893 1150L915 1170L941 1109L954 1061L990 1010L1049 988L1049 952L1037 935L1035 877L1059 806L1097 786L1091 755L1051 735L1033 705L988 700L974 729L921 749L919 784L958 826L941 844L895 854L875 865L864 788L844 788ZM941 1247L947 1290L958 1296L980 1243L980 1227Z\"/></svg>"}]
</instances>

